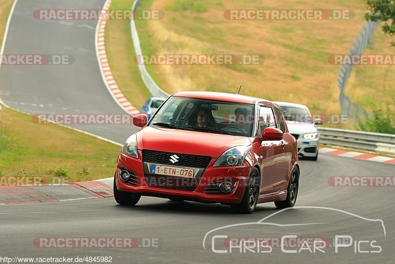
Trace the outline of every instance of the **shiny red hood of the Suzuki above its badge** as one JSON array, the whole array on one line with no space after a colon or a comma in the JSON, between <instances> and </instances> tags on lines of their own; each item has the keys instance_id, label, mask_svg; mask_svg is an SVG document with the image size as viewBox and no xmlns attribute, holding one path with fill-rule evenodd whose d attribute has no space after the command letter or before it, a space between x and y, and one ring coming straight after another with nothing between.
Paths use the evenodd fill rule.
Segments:
<instances>
[{"instance_id":1,"label":"shiny red hood of the Suzuki above its badge","mask_svg":"<svg viewBox=\"0 0 395 264\"><path fill-rule=\"evenodd\" d=\"M138 149L210 156L218 158L235 146L248 146L246 136L145 127L137 132Z\"/></svg>"}]
</instances>

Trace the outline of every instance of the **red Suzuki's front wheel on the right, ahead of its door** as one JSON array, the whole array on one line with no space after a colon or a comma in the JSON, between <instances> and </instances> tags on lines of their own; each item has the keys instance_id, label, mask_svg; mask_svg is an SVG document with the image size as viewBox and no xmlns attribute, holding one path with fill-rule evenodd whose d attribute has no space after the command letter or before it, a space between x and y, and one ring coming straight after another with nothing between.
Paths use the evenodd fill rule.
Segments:
<instances>
[{"instance_id":1,"label":"red Suzuki's front wheel on the right, ahead of its door","mask_svg":"<svg viewBox=\"0 0 395 264\"><path fill-rule=\"evenodd\" d=\"M252 169L245 187L241 203L232 205L232 210L238 214L251 214L255 211L259 196L259 171L257 168Z\"/></svg>"}]
</instances>

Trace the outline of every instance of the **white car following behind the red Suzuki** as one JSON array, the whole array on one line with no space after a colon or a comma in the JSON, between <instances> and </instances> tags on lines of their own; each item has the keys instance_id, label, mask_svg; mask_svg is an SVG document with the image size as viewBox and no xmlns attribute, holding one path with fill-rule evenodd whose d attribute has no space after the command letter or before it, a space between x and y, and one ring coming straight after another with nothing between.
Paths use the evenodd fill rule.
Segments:
<instances>
[{"instance_id":1,"label":"white car following behind the red Suzuki","mask_svg":"<svg viewBox=\"0 0 395 264\"><path fill-rule=\"evenodd\" d=\"M321 119L313 121L313 116L306 105L287 102L275 103L281 107L288 130L298 141L298 156L317 160L319 133L316 125L322 125Z\"/></svg>"}]
</instances>

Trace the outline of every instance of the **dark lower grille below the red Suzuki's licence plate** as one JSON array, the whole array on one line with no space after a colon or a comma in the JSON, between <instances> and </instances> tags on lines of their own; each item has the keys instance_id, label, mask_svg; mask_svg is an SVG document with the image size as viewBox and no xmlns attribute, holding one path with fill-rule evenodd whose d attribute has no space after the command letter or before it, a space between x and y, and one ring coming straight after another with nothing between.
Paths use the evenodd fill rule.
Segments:
<instances>
[{"instance_id":1,"label":"dark lower grille below the red Suzuki's licence plate","mask_svg":"<svg viewBox=\"0 0 395 264\"><path fill-rule=\"evenodd\" d=\"M199 179L198 178L186 178L176 176L157 176L157 175L145 175L145 183L149 187L180 190L180 191L194 191L196 190Z\"/></svg>"}]
</instances>

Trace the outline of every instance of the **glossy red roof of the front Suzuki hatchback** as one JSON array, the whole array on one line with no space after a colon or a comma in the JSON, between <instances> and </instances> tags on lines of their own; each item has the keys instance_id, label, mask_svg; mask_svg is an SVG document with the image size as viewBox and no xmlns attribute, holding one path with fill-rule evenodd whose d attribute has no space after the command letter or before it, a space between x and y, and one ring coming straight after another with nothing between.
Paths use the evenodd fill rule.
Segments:
<instances>
[{"instance_id":1,"label":"glossy red roof of the front Suzuki hatchback","mask_svg":"<svg viewBox=\"0 0 395 264\"><path fill-rule=\"evenodd\" d=\"M236 93L228 93L228 92L216 92L216 91L179 91L173 93L172 96L191 97L198 99L211 99L211 100L246 103L246 104L254 104L255 101L272 103L269 100L261 99L258 97L236 94Z\"/></svg>"}]
</instances>

